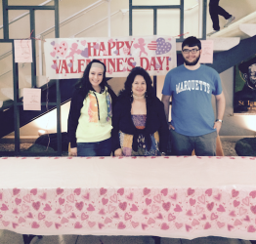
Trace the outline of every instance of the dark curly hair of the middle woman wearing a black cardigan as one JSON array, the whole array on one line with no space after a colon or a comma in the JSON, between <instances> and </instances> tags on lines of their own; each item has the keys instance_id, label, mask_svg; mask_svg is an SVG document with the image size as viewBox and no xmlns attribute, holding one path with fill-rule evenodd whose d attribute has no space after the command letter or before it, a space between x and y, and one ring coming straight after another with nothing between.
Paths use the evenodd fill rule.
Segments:
<instances>
[{"instance_id":1,"label":"dark curly hair of the middle woman wearing a black cardigan","mask_svg":"<svg viewBox=\"0 0 256 244\"><path fill-rule=\"evenodd\" d=\"M152 98L155 98L154 90L152 87L152 80L149 76L149 73L143 68L143 67L134 67L129 75L127 76L127 79L124 83L124 89L120 91L119 97L120 98L129 98L131 102L133 102L133 96L132 96L132 84L134 82L134 79L137 75L141 75L144 77L146 84L147 84L147 92L146 92L146 100L150 101Z\"/></svg>"}]
</instances>

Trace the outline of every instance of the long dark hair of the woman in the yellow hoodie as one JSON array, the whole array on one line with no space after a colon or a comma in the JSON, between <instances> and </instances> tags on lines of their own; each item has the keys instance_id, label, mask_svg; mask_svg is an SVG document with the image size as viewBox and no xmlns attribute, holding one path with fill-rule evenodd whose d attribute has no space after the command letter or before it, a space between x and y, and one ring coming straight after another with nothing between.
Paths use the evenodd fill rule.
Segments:
<instances>
[{"instance_id":1,"label":"long dark hair of the woman in the yellow hoodie","mask_svg":"<svg viewBox=\"0 0 256 244\"><path fill-rule=\"evenodd\" d=\"M75 85L75 88L78 89L83 94L84 98L86 98L86 96L90 90L95 91L94 88L92 87L90 80L89 80L89 73L90 73L90 69L91 69L93 62L99 62L104 65L103 81L101 82L100 86L102 89L105 87L109 87L107 85L106 65L104 64L104 62L98 61L98 60L90 61L84 70L83 77Z\"/></svg>"}]
</instances>

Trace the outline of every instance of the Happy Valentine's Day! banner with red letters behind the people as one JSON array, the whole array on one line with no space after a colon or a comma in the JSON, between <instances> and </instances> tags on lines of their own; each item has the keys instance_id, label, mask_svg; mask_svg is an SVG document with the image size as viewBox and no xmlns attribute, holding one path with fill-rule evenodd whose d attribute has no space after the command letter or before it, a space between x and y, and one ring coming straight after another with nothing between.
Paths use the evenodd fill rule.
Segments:
<instances>
[{"instance_id":1,"label":"Happy Valentine's Day! banner with red letters behind the people","mask_svg":"<svg viewBox=\"0 0 256 244\"><path fill-rule=\"evenodd\" d=\"M80 78L94 59L106 64L107 77L126 77L135 66L166 75L177 66L176 39L170 36L46 39L44 53L49 79Z\"/></svg>"}]
</instances>

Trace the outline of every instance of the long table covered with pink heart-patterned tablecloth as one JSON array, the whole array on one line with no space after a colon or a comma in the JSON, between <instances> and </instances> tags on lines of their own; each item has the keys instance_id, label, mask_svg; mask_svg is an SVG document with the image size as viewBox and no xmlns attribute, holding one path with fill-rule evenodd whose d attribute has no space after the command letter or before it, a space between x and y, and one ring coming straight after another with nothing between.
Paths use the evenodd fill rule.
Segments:
<instances>
[{"instance_id":1,"label":"long table covered with pink heart-patterned tablecloth","mask_svg":"<svg viewBox=\"0 0 256 244\"><path fill-rule=\"evenodd\" d=\"M256 239L255 157L2 157L0 229Z\"/></svg>"}]
</instances>

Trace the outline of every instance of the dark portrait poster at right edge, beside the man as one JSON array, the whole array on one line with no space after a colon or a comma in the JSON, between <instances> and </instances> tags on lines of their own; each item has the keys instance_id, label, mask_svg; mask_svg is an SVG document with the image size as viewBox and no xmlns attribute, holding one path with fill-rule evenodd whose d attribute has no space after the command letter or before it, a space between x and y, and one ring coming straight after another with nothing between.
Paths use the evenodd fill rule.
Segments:
<instances>
[{"instance_id":1,"label":"dark portrait poster at right edge, beside the man","mask_svg":"<svg viewBox=\"0 0 256 244\"><path fill-rule=\"evenodd\" d=\"M256 55L235 65L234 113L256 114Z\"/></svg>"}]
</instances>

